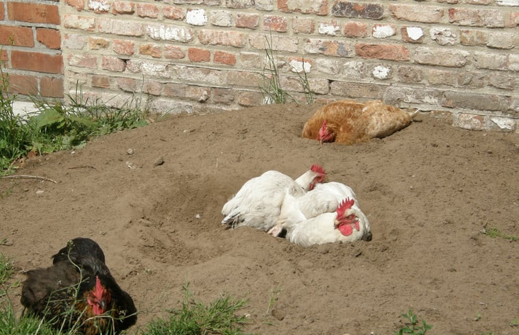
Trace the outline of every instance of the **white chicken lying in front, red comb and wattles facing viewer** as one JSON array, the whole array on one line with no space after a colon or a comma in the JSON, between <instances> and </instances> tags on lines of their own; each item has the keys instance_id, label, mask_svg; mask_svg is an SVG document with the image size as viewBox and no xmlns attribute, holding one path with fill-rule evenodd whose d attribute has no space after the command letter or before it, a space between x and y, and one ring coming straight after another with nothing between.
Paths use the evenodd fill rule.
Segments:
<instances>
[{"instance_id":1,"label":"white chicken lying in front, red comb and wattles facing viewer","mask_svg":"<svg viewBox=\"0 0 519 335\"><path fill-rule=\"evenodd\" d=\"M372 239L371 227L364 213L354 205L354 200L346 198L332 213L324 213L306 219L295 206L295 198L287 195L285 201L286 219L282 225L287 230L287 240L302 247L324 243L353 242Z\"/></svg>"}]
</instances>

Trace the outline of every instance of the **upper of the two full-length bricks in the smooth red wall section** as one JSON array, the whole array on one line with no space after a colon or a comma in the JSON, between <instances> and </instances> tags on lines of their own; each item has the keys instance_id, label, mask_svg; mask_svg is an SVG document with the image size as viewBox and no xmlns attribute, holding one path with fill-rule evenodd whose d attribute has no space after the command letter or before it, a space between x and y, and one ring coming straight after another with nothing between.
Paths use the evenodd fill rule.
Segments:
<instances>
[{"instance_id":1,"label":"upper of the two full-length bricks in the smooth red wall section","mask_svg":"<svg viewBox=\"0 0 519 335\"><path fill-rule=\"evenodd\" d=\"M13 21L60 24L58 5L8 2L8 18Z\"/></svg>"}]
</instances>

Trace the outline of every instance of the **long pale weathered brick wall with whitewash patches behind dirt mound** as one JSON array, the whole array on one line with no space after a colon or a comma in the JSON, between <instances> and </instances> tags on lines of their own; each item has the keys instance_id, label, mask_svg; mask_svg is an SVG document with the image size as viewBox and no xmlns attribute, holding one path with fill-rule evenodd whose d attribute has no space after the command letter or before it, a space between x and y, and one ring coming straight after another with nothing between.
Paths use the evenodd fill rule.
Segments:
<instances>
[{"instance_id":1,"label":"long pale weathered brick wall with whitewash patches behind dirt mound","mask_svg":"<svg viewBox=\"0 0 519 335\"><path fill-rule=\"evenodd\" d=\"M145 92L169 112L261 104L268 39L298 99L304 67L318 99L382 99L519 132L519 0L62 0L60 18L65 92L79 82L111 103ZM38 27L18 42L40 43Z\"/></svg>"}]
</instances>

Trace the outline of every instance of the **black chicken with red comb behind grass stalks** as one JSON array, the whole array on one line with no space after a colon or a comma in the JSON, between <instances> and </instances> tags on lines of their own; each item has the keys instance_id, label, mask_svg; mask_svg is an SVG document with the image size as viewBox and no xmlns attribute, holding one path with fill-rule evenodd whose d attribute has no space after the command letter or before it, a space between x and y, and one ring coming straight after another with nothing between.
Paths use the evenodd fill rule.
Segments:
<instances>
[{"instance_id":1,"label":"black chicken with red comb behind grass stalks","mask_svg":"<svg viewBox=\"0 0 519 335\"><path fill-rule=\"evenodd\" d=\"M21 303L29 312L84 335L117 333L136 323L132 297L115 282L95 241L74 238L52 258L47 269L27 271Z\"/></svg>"}]
</instances>

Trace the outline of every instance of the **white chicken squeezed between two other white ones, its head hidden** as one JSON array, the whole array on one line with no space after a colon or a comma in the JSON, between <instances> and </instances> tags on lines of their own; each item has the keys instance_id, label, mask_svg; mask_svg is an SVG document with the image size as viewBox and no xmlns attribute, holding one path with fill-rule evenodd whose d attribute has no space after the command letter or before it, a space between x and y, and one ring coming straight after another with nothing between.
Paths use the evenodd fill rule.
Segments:
<instances>
[{"instance_id":1,"label":"white chicken squeezed between two other white ones, its head hidden","mask_svg":"<svg viewBox=\"0 0 519 335\"><path fill-rule=\"evenodd\" d=\"M328 182L324 184L317 184L313 190L305 193L301 197L295 197L295 199L288 199L282 203L280 210L280 217L274 227L269 229L268 233L272 236L279 236L282 232L282 225L286 219L291 219L290 215L295 214L295 219L300 219L300 214L304 216L304 219L311 219L319 214L327 212L335 212L339 203L343 199L350 198L354 200L354 206L359 207L357 201L357 195L355 195L352 188L339 182ZM292 211L289 206L295 206ZM360 208L359 208L360 210ZM300 214L299 214L300 212Z\"/></svg>"}]
</instances>

